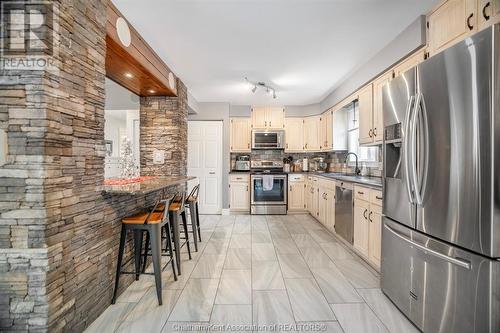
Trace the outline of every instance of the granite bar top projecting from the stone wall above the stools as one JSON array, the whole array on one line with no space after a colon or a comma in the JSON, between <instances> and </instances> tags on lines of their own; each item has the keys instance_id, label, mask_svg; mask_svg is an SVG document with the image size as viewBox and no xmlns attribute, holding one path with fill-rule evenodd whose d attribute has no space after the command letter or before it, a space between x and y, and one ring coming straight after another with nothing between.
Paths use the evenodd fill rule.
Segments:
<instances>
[{"instance_id":1,"label":"granite bar top projecting from the stone wall above the stools","mask_svg":"<svg viewBox=\"0 0 500 333\"><path fill-rule=\"evenodd\" d=\"M171 177L156 177L139 183L126 185L103 185L102 192L107 194L147 194L150 192L161 190L165 187L174 186L186 183L189 180L196 179L190 176L171 176Z\"/></svg>"}]
</instances>

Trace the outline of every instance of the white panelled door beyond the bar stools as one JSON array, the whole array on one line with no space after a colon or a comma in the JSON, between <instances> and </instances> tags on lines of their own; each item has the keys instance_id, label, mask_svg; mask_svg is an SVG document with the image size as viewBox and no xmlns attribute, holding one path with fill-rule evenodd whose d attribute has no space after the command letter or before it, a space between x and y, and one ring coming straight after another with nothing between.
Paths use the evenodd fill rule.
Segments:
<instances>
[{"instance_id":1,"label":"white panelled door beyond the bar stools","mask_svg":"<svg viewBox=\"0 0 500 333\"><path fill-rule=\"evenodd\" d=\"M222 121L188 122L188 176L200 184L200 214L222 210ZM189 190L194 184L190 184Z\"/></svg>"}]
</instances>

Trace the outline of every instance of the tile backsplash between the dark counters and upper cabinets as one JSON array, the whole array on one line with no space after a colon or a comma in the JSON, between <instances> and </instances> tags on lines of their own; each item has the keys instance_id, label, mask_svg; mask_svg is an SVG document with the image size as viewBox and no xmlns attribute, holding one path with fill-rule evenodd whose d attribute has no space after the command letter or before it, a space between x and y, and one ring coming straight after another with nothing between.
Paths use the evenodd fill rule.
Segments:
<instances>
[{"instance_id":1,"label":"tile backsplash between the dark counters and upper cabinets","mask_svg":"<svg viewBox=\"0 0 500 333\"><path fill-rule=\"evenodd\" d=\"M320 153L286 153L282 150L253 150L251 153L231 153L231 169L234 168L236 157L239 155L250 155L251 160L266 160L266 161L282 161L284 158L291 156L293 161L302 160L307 157L312 160L315 157L323 157L328 163L329 172L353 173L354 166L348 166L344 163L345 151L341 152L320 152ZM359 168L364 175L381 177L382 176L382 150L379 149L379 162L359 163Z\"/></svg>"}]
</instances>

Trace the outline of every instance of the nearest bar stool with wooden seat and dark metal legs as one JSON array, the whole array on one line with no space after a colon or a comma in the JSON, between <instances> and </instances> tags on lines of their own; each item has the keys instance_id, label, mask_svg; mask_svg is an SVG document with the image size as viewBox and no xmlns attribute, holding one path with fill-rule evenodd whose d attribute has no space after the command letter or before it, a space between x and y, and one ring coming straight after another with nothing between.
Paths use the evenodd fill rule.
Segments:
<instances>
[{"instance_id":1,"label":"nearest bar stool with wooden seat and dark metal legs","mask_svg":"<svg viewBox=\"0 0 500 333\"><path fill-rule=\"evenodd\" d=\"M144 232L147 232L148 243L149 240L151 242L151 252L153 257L153 270L154 273L150 273L155 276L156 283L156 295L158 297L158 304L162 305L162 292L161 292L161 240L162 240L162 228L166 228L169 232L167 233L167 246L170 244L170 249L172 249L172 241L170 238L170 221L169 217L165 212L156 211L159 205L170 205L172 201L172 197L159 200L154 207L151 209L149 213L142 212L132 216L128 216L122 219L122 229L120 235L120 247L118 251L118 263L116 266L116 277L115 277L115 290L113 292L113 299L111 301L112 304L116 302L116 294L118 291L118 286L120 282L121 274L135 274L135 279L139 279L140 274L140 266L141 266L141 252L142 252L142 236ZM127 239L127 231L134 232L134 257L135 257L135 272L125 272L122 271L122 261L123 261L123 252L125 249L125 242ZM146 245L146 255L148 252L149 244ZM174 278L177 280L177 275L175 272L175 265L173 263L173 253L170 250L169 253L170 260L168 263L172 263L172 272L174 274ZM144 257L144 260L147 259L147 256ZM167 263L167 265L168 265ZM126 263L127 264L127 263ZM126 265L125 264L125 265Z\"/></svg>"}]
</instances>

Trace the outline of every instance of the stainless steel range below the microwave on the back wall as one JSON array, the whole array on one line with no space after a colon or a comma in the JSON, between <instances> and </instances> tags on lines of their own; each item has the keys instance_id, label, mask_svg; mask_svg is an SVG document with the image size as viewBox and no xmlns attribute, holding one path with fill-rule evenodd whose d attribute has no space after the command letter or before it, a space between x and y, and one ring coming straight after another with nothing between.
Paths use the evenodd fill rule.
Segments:
<instances>
[{"instance_id":1,"label":"stainless steel range below the microwave on the back wall","mask_svg":"<svg viewBox=\"0 0 500 333\"><path fill-rule=\"evenodd\" d=\"M283 162L252 161L250 184L251 214L286 214L287 175L283 172Z\"/></svg>"}]
</instances>

